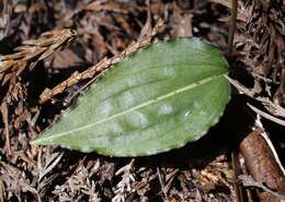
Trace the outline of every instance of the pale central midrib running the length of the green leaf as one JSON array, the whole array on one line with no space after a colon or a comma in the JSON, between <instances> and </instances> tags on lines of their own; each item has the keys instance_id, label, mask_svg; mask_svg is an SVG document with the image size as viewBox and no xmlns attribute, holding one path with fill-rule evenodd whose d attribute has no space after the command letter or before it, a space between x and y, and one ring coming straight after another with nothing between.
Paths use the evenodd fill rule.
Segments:
<instances>
[{"instance_id":1,"label":"pale central midrib running the length of the green leaf","mask_svg":"<svg viewBox=\"0 0 285 202\"><path fill-rule=\"evenodd\" d=\"M66 134L72 133L72 132L78 132L78 131L81 131L81 130L84 130L84 129L94 127L94 126L96 126L96 124L106 122L106 121L109 121L109 120L112 120L112 119L117 118L117 117L119 117L119 116L126 115L126 114L132 112L132 111L134 111L134 110L140 109L140 108L146 107L146 106L148 106L148 105L158 103L158 102L160 102L160 100L162 100L162 99L166 99L166 98L168 98L168 97L171 97L171 96L173 96L173 95L176 95L176 94L183 93L183 92L185 92L185 91L192 90L192 88L194 88L194 87L197 87L197 86L200 86L200 85L202 85L202 84L205 84L205 83L207 83L207 82L210 82L210 81L213 81L213 80L215 80L215 79L217 79L217 78L219 78L219 76L223 76L223 74L213 75L213 76L203 79L203 80L201 80L201 81L198 81L198 82L191 83L191 84L189 84L189 85L186 85L186 86L184 86L184 87L178 88L178 90L172 91L172 92L170 92L170 93L167 93L167 94L164 94L164 95L161 95L161 96L158 96L158 97L152 98L152 99L150 99L150 100L147 100L147 102L145 102L145 103L141 103L141 104L137 105L137 106L134 106L134 107L132 107L132 108L129 108L129 109L127 109L127 110L124 110L124 111L122 111L122 112L117 112L117 114L115 114L115 115L112 115L111 117L107 117L107 118L102 119L102 120L100 120L100 121L96 121L96 122L93 122L93 123L90 123L90 124L86 124L86 126L83 126L83 127L80 127L80 128L77 128L77 129L73 129L73 130L60 132L60 133L57 133L57 134L55 134L55 135L53 135L53 136L46 136L46 138L42 136L42 138L38 139L38 140L32 141L32 143L33 143L33 144L36 144L37 142L41 143L41 142L43 142L43 141L47 141L47 140L50 140L50 139L53 140L53 139L56 139L56 138L59 138L59 136L64 136L64 135L66 135Z\"/></svg>"}]
</instances>

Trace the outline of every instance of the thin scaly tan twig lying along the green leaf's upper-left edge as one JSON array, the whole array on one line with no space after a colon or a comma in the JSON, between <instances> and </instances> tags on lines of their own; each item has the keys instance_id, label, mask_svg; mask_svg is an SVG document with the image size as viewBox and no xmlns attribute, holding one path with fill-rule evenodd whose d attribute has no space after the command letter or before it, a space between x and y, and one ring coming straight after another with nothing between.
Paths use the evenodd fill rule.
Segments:
<instances>
[{"instance_id":1,"label":"thin scaly tan twig lying along the green leaf's upper-left edge","mask_svg":"<svg viewBox=\"0 0 285 202\"><path fill-rule=\"evenodd\" d=\"M156 26L153 27L153 29L149 34L147 34L144 38L141 38L137 43L132 44L128 48L126 48L117 56L114 56L110 59L104 58L99 63L92 66L84 72L81 73L75 72L70 78L68 78L66 81L55 86L53 90L45 90L39 96L39 103L44 104L48 99L53 98L55 95L62 93L67 87L70 87L71 85L75 85L82 80L93 79L95 74L106 70L109 67L122 61L125 57L149 45L153 36L157 35L158 31L162 26L163 26L163 21L159 20ZM95 76L95 79L98 79L98 76Z\"/></svg>"}]
</instances>

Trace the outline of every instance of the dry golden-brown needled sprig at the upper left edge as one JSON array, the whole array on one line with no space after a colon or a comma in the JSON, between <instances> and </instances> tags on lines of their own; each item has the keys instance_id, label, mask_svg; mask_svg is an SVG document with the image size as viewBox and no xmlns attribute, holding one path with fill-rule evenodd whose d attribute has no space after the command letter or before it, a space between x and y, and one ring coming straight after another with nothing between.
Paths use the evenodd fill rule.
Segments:
<instances>
[{"instance_id":1,"label":"dry golden-brown needled sprig at the upper left edge","mask_svg":"<svg viewBox=\"0 0 285 202\"><path fill-rule=\"evenodd\" d=\"M12 75L20 76L27 68L32 70L38 61L70 44L76 37L75 31L55 29L42 34L38 39L23 41L23 46L15 48L15 54L0 56L0 84L8 83Z\"/></svg>"}]
</instances>

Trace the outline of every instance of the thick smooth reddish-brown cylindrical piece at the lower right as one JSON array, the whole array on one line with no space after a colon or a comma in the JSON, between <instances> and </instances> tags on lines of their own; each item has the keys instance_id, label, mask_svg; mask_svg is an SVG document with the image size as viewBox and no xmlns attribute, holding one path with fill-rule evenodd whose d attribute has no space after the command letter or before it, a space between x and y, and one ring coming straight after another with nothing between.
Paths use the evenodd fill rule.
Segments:
<instances>
[{"instance_id":1,"label":"thick smooth reddish-brown cylindrical piece at the lower right","mask_svg":"<svg viewBox=\"0 0 285 202\"><path fill-rule=\"evenodd\" d=\"M281 194L285 193L285 177L260 131L253 131L243 139L240 151L250 175L256 181L264 182L266 187ZM267 192L259 192L259 198L262 202L280 201Z\"/></svg>"}]
</instances>

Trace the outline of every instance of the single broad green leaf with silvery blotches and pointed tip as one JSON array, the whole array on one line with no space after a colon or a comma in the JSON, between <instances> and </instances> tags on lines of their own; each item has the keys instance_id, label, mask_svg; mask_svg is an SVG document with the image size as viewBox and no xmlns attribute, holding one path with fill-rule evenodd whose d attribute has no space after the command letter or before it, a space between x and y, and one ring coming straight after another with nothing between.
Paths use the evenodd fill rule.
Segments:
<instances>
[{"instance_id":1,"label":"single broad green leaf with silvery blotches and pointed tip","mask_svg":"<svg viewBox=\"0 0 285 202\"><path fill-rule=\"evenodd\" d=\"M227 71L221 52L197 38L151 45L114 66L32 143L110 156L181 147L223 115Z\"/></svg>"}]
</instances>

